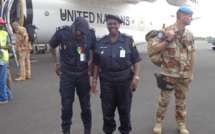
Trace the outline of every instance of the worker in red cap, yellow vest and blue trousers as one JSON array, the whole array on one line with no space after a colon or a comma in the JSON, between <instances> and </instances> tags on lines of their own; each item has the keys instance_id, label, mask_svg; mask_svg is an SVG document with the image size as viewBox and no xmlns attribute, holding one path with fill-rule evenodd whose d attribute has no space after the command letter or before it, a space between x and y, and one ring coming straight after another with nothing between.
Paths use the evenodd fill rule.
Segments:
<instances>
[{"instance_id":1,"label":"worker in red cap, yellow vest and blue trousers","mask_svg":"<svg viewBox=\"0 0 215 134\"><path fill-rule=\"evenodd\" d=\"M12 93L6 85L8 50L11 49L11 42L8 33L3 30L5 23L0 17L0 105L8 103L8 100L12 97Z\"/></svg>"}]
</instances>

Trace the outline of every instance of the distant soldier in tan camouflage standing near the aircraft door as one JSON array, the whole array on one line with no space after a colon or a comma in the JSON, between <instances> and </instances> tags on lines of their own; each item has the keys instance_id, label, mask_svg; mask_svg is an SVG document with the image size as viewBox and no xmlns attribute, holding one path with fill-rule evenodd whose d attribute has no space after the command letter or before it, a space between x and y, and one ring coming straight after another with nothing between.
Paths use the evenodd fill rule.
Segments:
<instances>
[{"instance_id":1,"label":"distant soldier in tan camouflage standing near the aircraft door","mask_svg":"<svg viewBox=\"0 0 215 134\"><path fill-rule=\"evenodd\" d=\"M15 80L23 81L31 78L30 51L32 48L26 29L17 22L14 22L12 26L16 31L16 49L20 68L19 77Z\"/></svg>"}]
</instances>

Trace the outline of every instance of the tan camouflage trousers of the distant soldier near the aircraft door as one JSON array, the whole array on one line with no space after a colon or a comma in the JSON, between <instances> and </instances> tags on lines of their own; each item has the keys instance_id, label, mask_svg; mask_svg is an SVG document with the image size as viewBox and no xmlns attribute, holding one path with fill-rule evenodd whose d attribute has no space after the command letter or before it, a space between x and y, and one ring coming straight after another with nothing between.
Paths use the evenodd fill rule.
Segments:
<instances>
[{"instance_id":1,"label":"tan camouflage trousers of the distant soldier near the aircraft door","mask_svg":"<svg viewBox=\"0 0 215 134\"><path fill-rule=\"evenodd\" d=\"M19 68L20 72L19 75L23 78L26 76L31 76L31 63L30 63L30 52L29 51L22 51L19 52Z\"/></svg>"}]
</instances>

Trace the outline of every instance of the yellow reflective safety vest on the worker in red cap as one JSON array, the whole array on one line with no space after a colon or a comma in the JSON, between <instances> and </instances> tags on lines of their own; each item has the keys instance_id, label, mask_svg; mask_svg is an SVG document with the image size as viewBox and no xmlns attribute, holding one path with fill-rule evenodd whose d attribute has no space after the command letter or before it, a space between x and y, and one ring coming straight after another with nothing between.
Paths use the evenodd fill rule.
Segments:
<instances>
[{"instance_id":1,"label":"yellow reflective safety vest on the worker in red cap","mask_svg":"<svg viewBox=\"0 0 215 134\"><path fill-rule=\"evenodd\" d=\"M7 32L0 30L0 46L6 46L7 45ZM4 62L7 62L9 60L9 53L6 49L0 49L2 52L2 59Z\"/></svg>"}]
</instances>

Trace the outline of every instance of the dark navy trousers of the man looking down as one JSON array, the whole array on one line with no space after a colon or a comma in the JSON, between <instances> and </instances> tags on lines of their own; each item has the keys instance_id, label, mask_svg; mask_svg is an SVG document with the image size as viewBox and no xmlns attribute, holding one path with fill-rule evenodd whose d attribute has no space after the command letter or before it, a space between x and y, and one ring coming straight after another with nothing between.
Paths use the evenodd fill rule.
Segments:
<instances>
[{"instance_id":1,"label":"dark navy trousers of the man looking down","mask_svg":"<svg viewBox=\"0 0 215 134\"><path fill-rule=\"evenodd\" d=\"M62 104L62 129L64 132L70 131L73 116L73 102L75 99L75 89L79 97L81 106L81 118L85 129L91 129L92 117L90 109L90 79L89 76L82 75L74 77L62 74L60 76L60 94Z\"/></svg>"}]
</instances>

